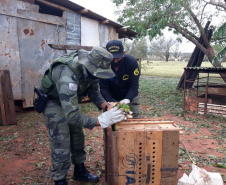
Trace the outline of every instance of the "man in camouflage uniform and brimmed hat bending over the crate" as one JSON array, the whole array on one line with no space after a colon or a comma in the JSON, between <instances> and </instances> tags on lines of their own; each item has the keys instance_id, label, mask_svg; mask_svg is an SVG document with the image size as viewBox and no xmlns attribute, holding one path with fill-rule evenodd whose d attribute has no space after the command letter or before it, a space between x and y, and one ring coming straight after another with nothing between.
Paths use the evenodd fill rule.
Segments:
<instances>
[{"instance_id":1,"label":"man in camouflage uniform and brimmed hat bending over the crate","mask_svg":"<svg viewBox=\"0 0 226 185\"><path fill-rule=\"evenodd\" d=\"M63 57L57 59L63 60ZM44 109L46 127L51 147L51 175L55 185L67 185L66 176L71 162L74 164L74 178L87 182L98 182L98 176L91 174L84 162L86 152L83 128L93 129L96 125L106 128L125 119L118 107L111 107L99 92L98 79L114 76L110 69L112 55L101 47L90 52L78 50L68 65L52 65L53 86L47 93L50 99ZM44 91L44 82L40 87ZM84 115L78 103L84 96L106 112L97 118Z\"/></svg>"}]
</instances>

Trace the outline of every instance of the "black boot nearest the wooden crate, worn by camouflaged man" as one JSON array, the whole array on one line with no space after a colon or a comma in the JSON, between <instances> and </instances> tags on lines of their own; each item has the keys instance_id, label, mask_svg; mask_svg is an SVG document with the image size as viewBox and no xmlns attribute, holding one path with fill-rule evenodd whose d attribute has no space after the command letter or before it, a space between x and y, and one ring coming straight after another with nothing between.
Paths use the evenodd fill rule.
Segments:
<instances>
[{"instance_id":1,"label":"black boot nearest the wooden crate, worn by camouflaged man","mask_svg":"<svg viewBox=\"0 0 226 185\"><path fill-rule=\"evenodd\" d=\"M78 179L78 180L83 180L86 182L98 182L99 181L99 177L97 175L90 173L84 166L84 163L75 164L74 178Z\"/></svg>"}]
</instances>

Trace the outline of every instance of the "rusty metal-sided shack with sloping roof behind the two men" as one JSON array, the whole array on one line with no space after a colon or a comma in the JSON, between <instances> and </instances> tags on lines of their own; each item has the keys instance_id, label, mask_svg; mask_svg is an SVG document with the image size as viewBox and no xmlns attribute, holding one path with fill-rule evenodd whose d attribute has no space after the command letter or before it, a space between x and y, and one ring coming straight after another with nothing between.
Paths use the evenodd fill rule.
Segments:
<instances>
[{"instance_id":1,"label":"rusty metal-sided shack with sloping roof behind the two men","mask_svg":"<svg viewBox=\"0 0 226 185\"><path fill-rule=\"evenodd\" d=\"M34 85L68 49L133 38L124 28L69 0L0 0L0 70L9 70L15 101L33 106Z\"/></svg>"}]
</instances>

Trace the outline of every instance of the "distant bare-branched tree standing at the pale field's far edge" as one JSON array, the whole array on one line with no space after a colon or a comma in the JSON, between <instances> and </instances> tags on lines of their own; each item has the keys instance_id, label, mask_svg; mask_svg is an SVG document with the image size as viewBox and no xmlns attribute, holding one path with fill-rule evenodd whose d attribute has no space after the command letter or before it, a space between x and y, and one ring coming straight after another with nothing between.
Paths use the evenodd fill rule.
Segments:
<instances>
[{"instance_id":1,"label":"distant bare-branched tree standing at the pale field's far edge","mask_svg":"<svg viewBox=\"0 0 226 185\"><path fill-rule=\"evenodd\" d=\"M166 62L168 62L170 54L173 52L173 45L176 43L177 41L171 37L169 39L161 37L152 42L151 51L159 57L164 56Z\"/></svg>"}]
</instances>

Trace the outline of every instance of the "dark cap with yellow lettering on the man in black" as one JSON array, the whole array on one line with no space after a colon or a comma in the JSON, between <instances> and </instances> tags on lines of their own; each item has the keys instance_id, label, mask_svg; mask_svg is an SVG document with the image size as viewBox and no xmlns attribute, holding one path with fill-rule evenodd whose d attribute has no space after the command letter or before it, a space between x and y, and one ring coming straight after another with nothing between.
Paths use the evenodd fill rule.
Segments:
<instances>
[{"instance_id":1,"label":"dark cap with yellow lettering on the man in black","mask_svg":"<svg viewBox=\"0 0 226 185\"><path fill-rule=\"evenodd\" d=\"M106 49L113 55L113 58L122 58L124 48L119 40L111 40L107 43Z\"/></svg>"}]
</instances>

